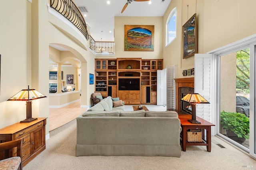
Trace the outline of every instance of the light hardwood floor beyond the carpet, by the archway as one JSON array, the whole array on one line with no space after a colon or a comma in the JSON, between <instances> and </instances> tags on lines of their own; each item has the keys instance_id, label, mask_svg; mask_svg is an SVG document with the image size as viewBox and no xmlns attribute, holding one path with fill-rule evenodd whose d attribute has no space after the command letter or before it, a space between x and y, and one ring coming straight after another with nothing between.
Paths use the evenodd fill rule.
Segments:
<instances>
[{"instance_id":1,"label":"light hardwood floor beyond the carpet, by the archway","mask_svg":"<svg viewBox=\"0 0 256 170\"><path fill-rule=\"evenodd\" d=\"M49 131L57 129L66 123L76 119L87 108L80 107L80 101L62 108L49 109Z\"/></svg>"}]
</instances>

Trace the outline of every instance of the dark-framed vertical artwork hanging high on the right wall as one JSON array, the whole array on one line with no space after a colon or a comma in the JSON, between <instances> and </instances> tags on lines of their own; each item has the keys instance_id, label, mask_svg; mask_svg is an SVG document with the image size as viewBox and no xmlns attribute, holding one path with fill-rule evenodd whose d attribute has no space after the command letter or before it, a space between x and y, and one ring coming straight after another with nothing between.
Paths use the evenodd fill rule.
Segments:
<instances>
[{"instance_id":1,"label":"dark-framed vertical artwork hanging high on the right wall","mask_svg":"<svg viewBox=\"0 0 256 170\"><path fill-rule=\"evenodd\" d=\"M186 59L197 53L196 14L182 26L182 32L183 59Z\"/></svg>"}]
</instances>

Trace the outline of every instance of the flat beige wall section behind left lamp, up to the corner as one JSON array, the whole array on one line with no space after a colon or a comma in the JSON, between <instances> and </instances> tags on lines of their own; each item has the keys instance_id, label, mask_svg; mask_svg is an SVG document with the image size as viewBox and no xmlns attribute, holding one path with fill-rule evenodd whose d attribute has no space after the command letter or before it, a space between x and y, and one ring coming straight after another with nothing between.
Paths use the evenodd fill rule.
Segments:
<instances>
[{"instance_id":1,"label":"flat beige wall section behind left lamp, up to the corner","mask_svg":"<svg viewBox=\"0 0 256 170\"><path fill-rule=\"evenodd\" d=\"M30 6L27 0L0 1L0 128L26 119L26 102L6 100L28 85L38 90L31 86Z\"/></svg>"}]
</instances>

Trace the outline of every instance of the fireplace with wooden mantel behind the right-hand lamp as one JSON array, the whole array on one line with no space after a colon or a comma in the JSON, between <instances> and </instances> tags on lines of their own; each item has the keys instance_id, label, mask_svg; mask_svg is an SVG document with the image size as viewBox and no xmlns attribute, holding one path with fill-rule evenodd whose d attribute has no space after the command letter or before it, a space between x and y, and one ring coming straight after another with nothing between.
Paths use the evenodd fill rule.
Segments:
<instances>
[{"instance_id":1,"label":"fireplace with wooden mantel behind the right-hand lamp","mask_svg":"<svg viewBox=\"0 0 256 170\"><path fill-rule=\"evenodd\" d=\"M188 112L185 111L185 107L189 104L182 102L181 99L188 93L194 93L194 77L175 78L174 80L176 83L176 109L181 114L188 114Z\"/></svg>"}]
</instances>

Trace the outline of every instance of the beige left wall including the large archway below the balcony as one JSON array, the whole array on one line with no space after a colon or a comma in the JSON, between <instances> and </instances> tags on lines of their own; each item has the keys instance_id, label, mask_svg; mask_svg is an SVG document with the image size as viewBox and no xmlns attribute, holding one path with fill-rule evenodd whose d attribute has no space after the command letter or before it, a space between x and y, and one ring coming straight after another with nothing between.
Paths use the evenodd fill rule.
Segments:
<instances>
[{"instance_id":1,"label":"beige left wall including the large archway below the balcony","mask_svg":"<svg viewBox=\"0 0 256 170\"><path fill-rule=\"evenodd\" d=\"M84 106L90 105L94 85L88 86L87 74L94 72L91 70L94 70L92 63L95 56L90 55L88 41L79 31L49 14L48 2L0 1L0 128L26 118L25 102L6 101L11 96L28 85L48 96L50 43L68 48L81 61L81 103ZM49 97L34 100L32 116L49 117L48 108ZM48 124L46 134L49 131Z\"/></svg>"}]
</instances>

